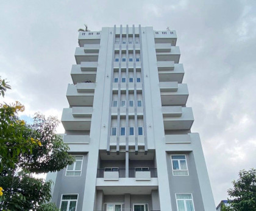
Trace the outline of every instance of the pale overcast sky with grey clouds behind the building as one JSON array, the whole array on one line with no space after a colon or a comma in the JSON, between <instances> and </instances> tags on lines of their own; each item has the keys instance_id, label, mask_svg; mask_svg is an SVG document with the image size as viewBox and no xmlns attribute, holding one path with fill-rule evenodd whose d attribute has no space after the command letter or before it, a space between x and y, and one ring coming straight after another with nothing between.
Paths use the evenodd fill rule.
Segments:
<instances>
[{"instance_id":1,"label":"pale overcast sky with grey clouds behind the building","mask_svg":"<svg viewBox=\"0 0 256 211\"><path fill-rule=\"evenodd\" d=\"M0 75L31 122L37 111L59 119L78 46L77 29L153 26L177 32L215 204L242 169L256 167L256 1L12 0L0 2ZM62 125L58 133L63 133Z\"/></svg>"}]
</instances>

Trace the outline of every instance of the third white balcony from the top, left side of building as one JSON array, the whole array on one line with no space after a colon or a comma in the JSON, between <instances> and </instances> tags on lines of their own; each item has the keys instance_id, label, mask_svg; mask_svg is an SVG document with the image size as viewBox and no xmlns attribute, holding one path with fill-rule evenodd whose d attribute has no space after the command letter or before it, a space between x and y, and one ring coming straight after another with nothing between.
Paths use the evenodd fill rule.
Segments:
<instances>
[{"instance_id":1,"label":"third white balcony from the top, left side of building","mask_svg":"<svg viewBox=\"0 0 256 211\"><path fill-rule=\"evenodd\" d=\"M90 64L93 63L93 64ZM96 81L98 63L82 62L81 64L73 64L71 69L71 77L73 83L82 83L85 81Z\"/></svg>"}]
</instances>

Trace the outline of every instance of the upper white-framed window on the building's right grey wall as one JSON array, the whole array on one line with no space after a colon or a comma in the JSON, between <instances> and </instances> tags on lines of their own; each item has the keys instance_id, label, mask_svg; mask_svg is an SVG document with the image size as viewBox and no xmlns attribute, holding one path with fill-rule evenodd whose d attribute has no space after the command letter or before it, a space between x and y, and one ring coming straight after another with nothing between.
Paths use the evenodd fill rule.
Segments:
<instances>
[{"instance_id":1,"label":"upper white-framed window on the building's right grey wall","mask_svg":"<svg viewBox=\"0 0 256 211\"><path fill-rule=\"evenodd\" d=\"M172 174L174 176L188 175L188 167L185 155L172 155L171 156L172 163Z\"/></svg>"}]
</instances>

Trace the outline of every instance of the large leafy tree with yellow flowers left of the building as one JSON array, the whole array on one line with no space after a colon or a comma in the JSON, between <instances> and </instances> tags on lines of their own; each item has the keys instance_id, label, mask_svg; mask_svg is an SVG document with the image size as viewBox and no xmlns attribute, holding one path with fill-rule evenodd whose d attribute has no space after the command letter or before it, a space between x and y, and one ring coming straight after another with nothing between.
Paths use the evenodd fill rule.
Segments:
<instances>
[{"instance_id":1,"label":"large leafy tree with yellow flowers left of the building","mask_svg":"<svg viewBox=\"0 0 256 211\"><path fill-rule=\"evenodd\" d=\"M73 157L55 134L56 117L46 119L37 113L28 125L18 117L22 111L19 102L0 105L0 210L59 210L55 204L45 204L51 199L52 181L32 174L59 171L73 164Z\"/></svg>"}]
</instances>

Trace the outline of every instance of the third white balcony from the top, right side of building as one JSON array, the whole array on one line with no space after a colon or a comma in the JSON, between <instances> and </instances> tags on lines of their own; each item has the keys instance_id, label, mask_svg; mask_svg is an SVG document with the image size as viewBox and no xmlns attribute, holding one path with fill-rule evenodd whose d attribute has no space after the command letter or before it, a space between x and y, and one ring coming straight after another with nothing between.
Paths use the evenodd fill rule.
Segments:
<instances>
[{"instance_id":1,"label":"third white balcony from the top, right side of building","mask_svg":"<svg viewBox=\"0 0 256 211\"><path fill-rule=\"evenodd\" d=\"M182 83L185 73L183 64L174 64L174 61L158 61L157 67L160 82L177 81Z\"/></svg>"}]
</instances>

